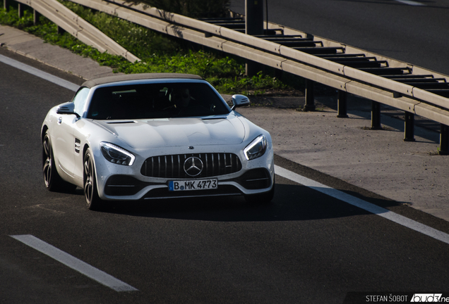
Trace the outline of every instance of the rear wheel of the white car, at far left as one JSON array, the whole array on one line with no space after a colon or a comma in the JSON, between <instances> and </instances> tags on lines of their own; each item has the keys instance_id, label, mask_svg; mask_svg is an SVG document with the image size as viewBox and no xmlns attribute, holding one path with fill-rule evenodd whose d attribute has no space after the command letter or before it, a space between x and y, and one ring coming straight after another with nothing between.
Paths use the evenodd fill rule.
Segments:
<instances>
[{"instance_id":1,"label":"rear wheel of the white car, at far left","mask_svg":"<svg viewBox=\"0 0 449 304\"><path fill-rule=\"evenodd\" d=\"M52 142L48 131L45 132L42 140L42 173L44 174L45 188L54 192L68 192L76 189L76 186L70 184L59 176L54 163Z\"/></svg>"}]
</instances>

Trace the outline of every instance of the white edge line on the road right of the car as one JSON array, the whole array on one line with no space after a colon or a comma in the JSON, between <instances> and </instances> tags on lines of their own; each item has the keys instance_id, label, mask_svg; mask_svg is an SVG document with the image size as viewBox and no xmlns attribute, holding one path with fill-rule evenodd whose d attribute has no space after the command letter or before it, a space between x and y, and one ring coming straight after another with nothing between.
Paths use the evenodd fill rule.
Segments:
<instances>
[{"instance_id":1,"label":"white edge line on the road right of the car","mask_svg":"<svg viewBox=\"0 0 449 304\"><path fill-rule=\"evenodd\" d=\"M368 203L367 201L361 200L360 198L356 198L354 196L346 194L345 192L333 189L330 186L315 182L312 179L308 179L307 177L298 175L297 173L284 169L283 167L275 165L275 172L277 175L285 177L286 179L290 179L293 182L297 182L298 184L302 184L313 190L319 191L323 194L327 194L328 196L332 196L333 198L337 198L340 201L344 201L346 203L369 211L370 213L374 213L376 215L384 217L387 220L393 221L397 224L401 224L402 226L408 227L417 232L421 232L421 234L431 236L433 237L433 239L437 239L438 241L443 241L444 243L449 244L449 234L445 234L444 232L433 229L429 226L426 226L425 224L410 220L408 217L398 215L388 209L379 207L378 205Z\"/></svg>"}]
</instances>

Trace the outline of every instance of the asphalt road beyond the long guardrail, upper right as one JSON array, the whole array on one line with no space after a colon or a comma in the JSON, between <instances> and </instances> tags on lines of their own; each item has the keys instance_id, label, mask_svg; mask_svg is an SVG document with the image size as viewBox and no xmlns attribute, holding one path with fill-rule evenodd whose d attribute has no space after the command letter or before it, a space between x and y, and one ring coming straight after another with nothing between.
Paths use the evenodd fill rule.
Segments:
<instances>
[{"instance_id":1,"label":"asphalt road beyond the long guardrail, upper right","mask_svg":"<svg viewBox=\"0 0 449 304\"><path fill-rule=\"evenodd\" d=\"M231 0L245 13L245 0ZM268 20L449 75L445 0L268 0Z\"/></svg>"}]
</instances>

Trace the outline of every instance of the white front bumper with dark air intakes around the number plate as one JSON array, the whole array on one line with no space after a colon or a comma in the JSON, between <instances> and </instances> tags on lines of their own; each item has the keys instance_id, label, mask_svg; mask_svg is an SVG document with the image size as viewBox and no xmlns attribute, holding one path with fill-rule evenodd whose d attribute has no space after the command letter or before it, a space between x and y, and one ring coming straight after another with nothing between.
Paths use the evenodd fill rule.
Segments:
<instances>
[{"instance_id":1,"label":"white front bumper with dark air intakes around the number plate","mask_svg":"<svg viewBox=\"0 0 449 304\"><path fill-rule=\"evenodd\" d=\"M215 149L217 150L217 149ZM162 155L163 150L152 151L154 155ZM209 153L208 147L196 148L197 153ZM238 151L237 153L235 151ZM94 152L95 153L95 152ZM236 153L241 162L238 171L227 171L219 175L202 176L198 178L172 175L171 177L149 177L143 174L147 157L136 153L136 162L132 166L116 165L109 163L98 151L95 153L95 169L97 172L97 187L100 198L104 201L139 201L157 198L180 198L200 196L230 196L230 195L252 195L269 192L273 188L275 180L275 165L273 146L271 142L263 156L254 160L246 160L241 146L227 146L220 153ZM192 154L193 155L193 154ZM168 158L167 158L168 159ZM222 158L220 158L222 161ZM231 163L222 162L224 167ZM168 167L172 163L170 160ZM232 163L235 164L234 161ZM227 165L226 165L227 164ZM149 164L148 168L150 167ZM217 163L215 163L217 165ZM155 167L156 169L156 167ZM172 172L172 170L168 170ZM176 170L174 170L176 171ZM148 170L150 172L150 170ZM211 172L210 170L208 172ZM145 173L145 172L144 172ZM169 191L169 181L192 179L217 179L217 189L191 190L191 191Z\"/></svg>"}]
</instances>

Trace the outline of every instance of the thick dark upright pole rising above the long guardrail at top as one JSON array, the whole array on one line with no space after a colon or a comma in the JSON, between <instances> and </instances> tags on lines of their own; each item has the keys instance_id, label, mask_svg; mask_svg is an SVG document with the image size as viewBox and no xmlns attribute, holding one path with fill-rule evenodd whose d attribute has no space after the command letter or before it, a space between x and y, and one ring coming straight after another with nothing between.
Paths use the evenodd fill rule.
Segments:
<instances>
[{"instance_id":1,"label":"thick dark upright pole rising above the long guardrail at top","mask_svg":"<svg viewBox=\"0 0 449 304\"><path fill-rule=\"evenodd\" d=\"M263 34L263 0L245 0L245 33ZM246 60L246 75L252 77L261 71L260 63Z\"/></svg>"}]
</instances>

